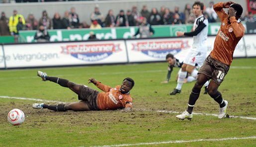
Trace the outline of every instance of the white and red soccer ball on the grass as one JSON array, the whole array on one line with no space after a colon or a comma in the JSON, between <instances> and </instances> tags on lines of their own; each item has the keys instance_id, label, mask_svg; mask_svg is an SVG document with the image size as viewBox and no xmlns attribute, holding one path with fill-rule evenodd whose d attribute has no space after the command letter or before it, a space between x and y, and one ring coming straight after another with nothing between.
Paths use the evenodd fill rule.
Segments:
<instances>
[{"instance_id":1,"label":"white and red soccer ball on the grass","mask_svg":"<svg viewBox=\"0 0 256 147\"><path fill-rule=\"evenodd\" d=\"M18 126L24 122L25 114L20 109L12 109L9 111L7 119L13 126Z\"/></svg>"}]
</instances>

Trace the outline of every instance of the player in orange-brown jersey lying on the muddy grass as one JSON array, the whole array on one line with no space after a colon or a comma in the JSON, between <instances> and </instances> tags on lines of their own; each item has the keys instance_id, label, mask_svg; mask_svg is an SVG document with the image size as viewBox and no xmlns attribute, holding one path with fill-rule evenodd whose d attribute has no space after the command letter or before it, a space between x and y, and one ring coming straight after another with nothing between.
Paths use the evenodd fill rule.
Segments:
<instances>
[{"instance_id":1,"label":"player in orange-brown jersey lying on the muddy grass","mask_svg":"<svg viewBox=\"0 0 256 147\"><path fill-rule=\"evenodd\" d=\"M89 79L88 83L93 83L99 89L104 91L100 93L85 85L75 84L66 79L58 77L47 76L46 73L41 71L37 72L37 75L42 78L43 81L49 80L54 83L58 83L62 87L67 87L78 95L78 99L81 101L61 103L54 105L47 105L44 103L34 103L32 105L35 109L48 108L54 111L90 111L90 110L106 110L106 109L120 109L125 108L123 111L131 111L132 98L129 91L134 86L134 81L131 78L123 80L121 86L111 88L107 85L96 81L94 78Z\"/></svg>"}]
</instances>

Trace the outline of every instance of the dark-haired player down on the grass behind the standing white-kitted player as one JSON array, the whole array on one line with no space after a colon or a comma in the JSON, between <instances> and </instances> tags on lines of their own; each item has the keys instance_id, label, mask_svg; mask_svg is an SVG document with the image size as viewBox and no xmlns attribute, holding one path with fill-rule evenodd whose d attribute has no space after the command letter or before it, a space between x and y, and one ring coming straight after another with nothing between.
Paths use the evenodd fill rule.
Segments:
<instances>
[{"instance_id":1,"label":"dark-haired player down on the grass behind the standing white-kitted player","mask_svg":"<svg viewBox=\"0 0 256 147\"><path fill-rule=\"evenodd\" d=\"M171 77L171 72L173 71L173 67L177 67L177 68L180 68L178 74L181 72L181 67L183 65L183 62L180 62L179 59L175 58L173 56L173 54L171 53L168 53L166 55L166 61L169 63L168 64L168 73L167 73L167 78L166 78L166 81L163 81L161 83L168 83L169 80L170 80L170 77ZM197 66L197 64L195 65ZM195 67L196 68L196 67ZM196 69L197 70L197 69ZM178 75L176 77L176 81L178 79ZM193 76L190 76L188 73L183 81L183 83L186 83L186 82L192 82L192 81L195 81L196 78L194 78ZM208 86L208 85L207 85ZM205 86L205 92L204 94L207 94L207 86Z\"/></svg>"}]
</instances>

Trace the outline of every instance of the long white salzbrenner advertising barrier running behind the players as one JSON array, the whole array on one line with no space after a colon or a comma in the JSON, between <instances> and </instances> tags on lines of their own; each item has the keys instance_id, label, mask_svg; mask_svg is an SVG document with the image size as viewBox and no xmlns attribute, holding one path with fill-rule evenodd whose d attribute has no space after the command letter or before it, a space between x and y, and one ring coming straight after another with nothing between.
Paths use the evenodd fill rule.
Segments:
<instances>
[{"instance_id":1,"label":"long white salzbrenner advertising barrier running behind the players","mask_svg":"<svg viewBox=\"0 0 256 147\"><path fill-rule=\"evenodd\" d=\"M216 36L208 36L208 54ZM256 34L246 34L234 57L256 57ZM192 37L2 44L0 69L164 61L167 53L183 60Z\"/></svg>"}]
</instances>

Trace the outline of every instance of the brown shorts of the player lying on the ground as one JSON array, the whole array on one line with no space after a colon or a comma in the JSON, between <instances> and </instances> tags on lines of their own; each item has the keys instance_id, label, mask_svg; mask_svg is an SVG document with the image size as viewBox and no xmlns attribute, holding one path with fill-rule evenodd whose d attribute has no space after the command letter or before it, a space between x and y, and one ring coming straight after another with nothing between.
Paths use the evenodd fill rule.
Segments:
<instances>
[{"instance_id":1,"label":"brown shorts of the player lying on the ground","mask_svg":"<svg viewBox=\"0 0 256 147\"><path fill-rule=\"evenodd\" d=\"M99 110L97 97L100 92L91 89L85 85L81 85L79 89L78 99L85 101L91 110Z\"/></svg>"}]
</instances>

